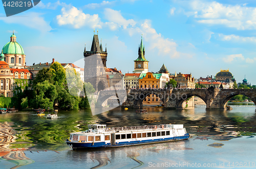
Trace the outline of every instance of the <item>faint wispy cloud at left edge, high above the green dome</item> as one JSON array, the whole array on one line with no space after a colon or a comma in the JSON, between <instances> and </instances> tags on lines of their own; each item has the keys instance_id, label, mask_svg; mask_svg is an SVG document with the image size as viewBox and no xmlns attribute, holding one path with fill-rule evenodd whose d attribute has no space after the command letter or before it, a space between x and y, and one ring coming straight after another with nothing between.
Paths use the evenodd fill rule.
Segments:
<instances>
[{"instance_id":1,"label":"faint wispy cloud at left edge, high above the green dome","mask_svg":"<svg viewBox=\"0 0 256 169\"><path fill-rule=\"evenodd\" d=\"M33 29L39 30L41 32L49 32L52 30L49 23L44 20L41 13L29 12L25 14L26 16L9 16L9 17L0 17L0 20L3 20L6 23L15 23L21 24Z\"/></svg>"}]
</instances>

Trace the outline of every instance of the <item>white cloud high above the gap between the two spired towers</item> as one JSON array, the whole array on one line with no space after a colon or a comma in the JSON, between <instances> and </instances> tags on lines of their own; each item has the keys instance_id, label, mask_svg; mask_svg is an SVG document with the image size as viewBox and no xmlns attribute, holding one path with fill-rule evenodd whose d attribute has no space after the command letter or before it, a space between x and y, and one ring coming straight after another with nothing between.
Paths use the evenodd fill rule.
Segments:
<instances>
[{"instance_id":1,"label":"white cloud high above the gap between the two spired towers","mask_svg":"<svg viewBox=\"0 0 256 169\"><path fill-rule=\"evenodd\" d=\"M124 19L121 15L120 11L116 11L110 8L106 8L104 10L105 18L111 22L117 23L119 26L123 26L123 29L126 29L127 26L130 24L134 26L136 22L133 19Z\"/></svg>"}]
</instances>

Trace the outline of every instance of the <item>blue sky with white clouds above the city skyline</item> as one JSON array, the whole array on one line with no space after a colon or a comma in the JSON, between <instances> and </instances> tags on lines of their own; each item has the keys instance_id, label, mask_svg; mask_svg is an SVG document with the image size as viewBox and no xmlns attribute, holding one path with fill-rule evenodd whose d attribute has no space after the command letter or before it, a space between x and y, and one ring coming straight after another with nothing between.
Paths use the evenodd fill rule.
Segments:
<instances>
[{"instance_id":1,"label":"blue sky with white clouds above the city skyline","mask_svg":"<svg viewBox=\"0 0 256 169\"><path fill-rule=\"evenodd\" d=\"M14 31L27 65L39 62L83 66L95 29L108 50L106 66L134 70L143 38L149 71L195 78L229 69L237 82L256 85L256 2L208 0L44 1L6 17L0 7L0 46ZM97 33L98 30L98 33Z\"/></svg>"}]
</instances>

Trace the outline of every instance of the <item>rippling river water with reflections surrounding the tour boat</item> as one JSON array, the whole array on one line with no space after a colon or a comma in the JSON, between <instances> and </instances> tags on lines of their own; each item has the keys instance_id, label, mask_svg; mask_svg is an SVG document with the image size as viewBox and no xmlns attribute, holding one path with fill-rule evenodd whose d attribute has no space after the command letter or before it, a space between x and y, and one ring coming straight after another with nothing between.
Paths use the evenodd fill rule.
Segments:
<instances>
[{"instance_id":1,"label":"rippling river water with reflections surrounding the tour boat","mask_svg":"<svg viewBox=\"0 0 256 169\"><path fill-rule=\"evenodd\" d=\"M58 119L35 112L0 114L0 168L246 168L256 167L256 113L253 103L228 103L232 110L115 108L58 111ZM72 150L65 140L87 124L108 127L184 124L188 140L124 148Z\"/></svg>"}]
</instances>

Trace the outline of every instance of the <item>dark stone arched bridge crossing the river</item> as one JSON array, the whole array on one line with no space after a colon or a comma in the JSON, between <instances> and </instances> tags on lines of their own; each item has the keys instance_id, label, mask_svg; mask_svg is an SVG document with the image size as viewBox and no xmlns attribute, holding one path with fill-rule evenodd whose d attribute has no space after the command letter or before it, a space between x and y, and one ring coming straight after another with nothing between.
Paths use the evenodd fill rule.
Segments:
<instances>
[{"instance_id":1,"label":"dark stone arched bridge crossing the river","mask_svg":"<svg viewBox=\"0 0 256 169\"><path fill-rule=\"evenodd\" d=\"M182 103L191 96L197 96L206 103L206 109L224 109L229 99L244 95L256 103L255 89L132 89L127 90L127 99L122 107L142 108L143 100L150 94L160 98L164 107L182 108Z\"/></svg>"}]
</instances>

